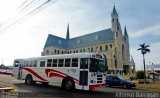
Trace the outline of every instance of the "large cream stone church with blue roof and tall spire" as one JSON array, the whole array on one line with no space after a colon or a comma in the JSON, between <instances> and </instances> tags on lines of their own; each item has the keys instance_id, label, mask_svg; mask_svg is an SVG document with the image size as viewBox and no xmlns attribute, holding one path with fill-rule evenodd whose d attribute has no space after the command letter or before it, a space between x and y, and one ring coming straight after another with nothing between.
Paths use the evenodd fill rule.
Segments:
<instances>
[{"instance_id":1,"label":"large cream stone church with blue roof and tall spire","mask_svg":"<svg viewBox=\"0 0 160 98\"><path fill-rule=\"evenodd\" d=\"M70 38L69 24L66 38L48 35L42 56L82 52L102 52L107 57L108 74L131 74L135 64L130 62L129 36L126 26L121 30L115 5L111 13L111 28ZM132 58L133 62L133 58Z\"/></svg>"}]
</instances>

